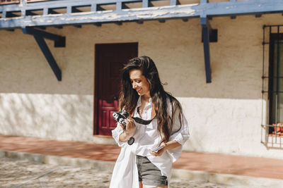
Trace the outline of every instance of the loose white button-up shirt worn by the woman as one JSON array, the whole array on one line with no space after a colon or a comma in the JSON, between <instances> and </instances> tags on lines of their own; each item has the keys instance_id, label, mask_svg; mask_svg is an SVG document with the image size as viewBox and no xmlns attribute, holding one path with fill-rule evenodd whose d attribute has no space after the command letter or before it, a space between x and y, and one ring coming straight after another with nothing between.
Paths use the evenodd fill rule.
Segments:
<instances>
[{"instance_id":1,"label":"loose white button-up shirt worn by the woman","mask_svg":"<svg viewBox=\"0 0 283 188\"><path fill-rule=\"evenodd\" d=\"M137 111L137 108L141 106L141 97L137 101L137 106L134 110L134 117L139 117L144 120L151 120L151 111L153 110L153 104L151 99L146 104L142 111L141 117ZM172 108L170 101L168 100L168 114L172 115ZM154 149L161 142L161 136L157 131L157 120L151 121L149 125L141 125L136 123L136 132L134 133L134 144L128 145L127 142L120 142L120 134L124 131L120 125L117 125L115 130L112 130L112 137L117 144L121 146L120 155L115 163L115 168L112 173L112 179L110 182L110 188L138 188L139 180L137 173L137 165L135 163L136 155L146 156L149 161L156 165L161 170L162 175L166 175L168 182L171 179L172 163L177 160L182 151L182 145L190 137L187 120L183 115L183 125L180 128L180 121L178 119L178 111L174 114L174 122L171 137L169 141L175 140L181 144L174 149L166 150L161 156L152 156L149 153L149 149ZM180 128L180 130L179 130Z\"/></svg>"}]
</instances>

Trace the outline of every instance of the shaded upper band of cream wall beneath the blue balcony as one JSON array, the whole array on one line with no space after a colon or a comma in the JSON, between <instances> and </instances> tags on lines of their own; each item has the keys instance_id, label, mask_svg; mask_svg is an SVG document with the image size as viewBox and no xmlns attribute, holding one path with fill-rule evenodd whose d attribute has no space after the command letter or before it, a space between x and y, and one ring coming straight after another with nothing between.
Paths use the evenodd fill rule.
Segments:
<instances>
[{"instance_id":1,"label":"shaded upper band of cream wall beneath the blue balcony","mask_svg":"<svg viewBox=\"0 0 283 188\"><path fill-rule=\"evenodd\" d=\"M214 20L214 25L221 26L221 30L219 30L219 41L210 44L212 83L209 84L206 83L201 28L198 20L192 20L190 25L168 21L163 25L146 23L150 27L134 28L129 24L117 28L132 29L130 31L134 33L133 39L139 41L139 55L151 56L154 59L161 80L168 82L166 90L174 96L261 99L262 45L256 36L261 37L262 30L259 30L260 34L257 32L255 36L254 31L247 32L245 27L239 28L236 23L233 23L233 27L229 27L229 24L224 24L223 21L230 23L231 20L224 18ZM176 25L181 29L172 30ZM107 26L116 30L116 27ZM257 23L256 26L260 27L260 24ZM100 32L108 31L109 28L102 27ZM184 35L183 30L187 28L190 29L193 37ZM235 28L238 35L231 38ZM146 31L144 33L146 37L152 38L143 39L143 35L137 34L139 29ZM61 82L57 81L31 35L23 35L21 30L16 30L13 34L6 32L3 44L9 43L9 45L6 49L3 49L5 45L0 46L1 51L5 51L0 57L0 93L93 95L94 44L98 40L93 31L96 31L93 27L87 27L87 30L81 29L79 33L89 35L84 37L78 35L78 30L74 28L64 28L60 31L67 37L67 45L64 48L54 48L54 43L47 41L62 70ZM129 37L132 33L128 32L121 32L121 35L127 35L125 39L132 39ZM166 40L165 37L169 34L173 38ZM115 36L117 33L113 32L112 35ZM16 42L9 42L11 39ZM18 49L18 46L23 47L15 53L13 49ZM146 54L141 54L141 51ZM169 55L164 56L164 54Z\"/></svg>"}]
</instances>

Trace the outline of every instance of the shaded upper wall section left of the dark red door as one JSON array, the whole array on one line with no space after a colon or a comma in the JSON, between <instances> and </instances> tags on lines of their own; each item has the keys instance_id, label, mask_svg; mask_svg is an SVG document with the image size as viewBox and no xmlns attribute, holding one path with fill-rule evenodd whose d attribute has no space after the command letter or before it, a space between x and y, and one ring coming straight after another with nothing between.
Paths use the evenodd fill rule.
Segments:
<instances>
[{"instance_id":1,"label":"shaded upper wall section left of the dark red door","mask_svg":"<svg viewBox=\"0 0 283 188\"><path fill-rule=\"evenodd\" d=\"M72 44L54 48L54 42L45 40L62 71L62 81L58 81L31 35L15 30L5 32L3 36L6 39L1 41L5 49L0 47L5 51L0 57L0 93L93 94L93 48L79 51L80 46L72 48Z\"/></svg>"}]
</instances>

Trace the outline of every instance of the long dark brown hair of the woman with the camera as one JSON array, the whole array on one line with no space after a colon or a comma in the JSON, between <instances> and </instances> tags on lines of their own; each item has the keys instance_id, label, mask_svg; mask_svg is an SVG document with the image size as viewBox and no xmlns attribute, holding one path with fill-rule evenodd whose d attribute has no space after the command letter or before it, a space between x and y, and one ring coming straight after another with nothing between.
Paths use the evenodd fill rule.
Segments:
<instances>
[{"instance_id":1,"label":"long dark brown hair of the woman with the camera","mask_svg":"<svg viewBox=\"0 0 283 188\"><path fill-rule=\"evenodd\" d=\"M161 136L162 142L168 142L169 137L173 134L174 117L178 117L180 121L179 130L183 125L182 107L175 97L164 90L156 65L148 56L133 58L122 69L122 85L119 98L120 110L124 108L125 111L132 114L139 99L139 94L137 94L135 89L132 89L132 83L129 80L129 71L132 69L141 70L142 75L149 82L151 99L155 104L155 109L152 110L156 111L158 134ZM168 114L168 100L171 104L172 114Z\"/></svg>"}]
</instances>

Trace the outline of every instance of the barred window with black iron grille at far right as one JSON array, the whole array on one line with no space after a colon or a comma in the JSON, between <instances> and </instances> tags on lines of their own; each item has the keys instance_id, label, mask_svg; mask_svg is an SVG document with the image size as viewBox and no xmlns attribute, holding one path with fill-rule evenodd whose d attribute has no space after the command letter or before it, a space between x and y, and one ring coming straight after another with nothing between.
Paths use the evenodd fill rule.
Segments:
<instances>
[{"instance_id":1,"label":"barred window with black iron grille at far right","mask_svg":"<svg viewBox=\"0 0 283 188\"><path fill-rule=\"evenodd\" d=\"M264 25L262 44L261 142L283 149L283 25Z\"/></svg>"}]
</instances>

